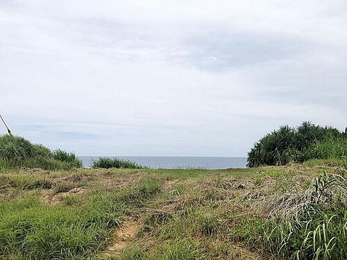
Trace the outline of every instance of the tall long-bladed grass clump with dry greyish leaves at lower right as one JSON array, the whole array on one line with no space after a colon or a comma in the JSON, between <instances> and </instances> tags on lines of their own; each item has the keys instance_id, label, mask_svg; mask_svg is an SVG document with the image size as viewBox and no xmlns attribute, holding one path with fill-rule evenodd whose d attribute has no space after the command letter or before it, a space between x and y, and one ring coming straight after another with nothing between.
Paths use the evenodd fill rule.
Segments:
<instances>
[{"instance_id":1,"label":"tall long-bladed grass clump with dry greyish leaves at lower right","mask_svg":"<svg viewBox=\"0 0 347 260\"><path fill-rule=\"evenodd\" d=\"M285 259L346 259L346 173L346 169L335 175L324 173L304 194L282 196L271 205L272 218L249 244Z\"/></svg>"}]
</instances>

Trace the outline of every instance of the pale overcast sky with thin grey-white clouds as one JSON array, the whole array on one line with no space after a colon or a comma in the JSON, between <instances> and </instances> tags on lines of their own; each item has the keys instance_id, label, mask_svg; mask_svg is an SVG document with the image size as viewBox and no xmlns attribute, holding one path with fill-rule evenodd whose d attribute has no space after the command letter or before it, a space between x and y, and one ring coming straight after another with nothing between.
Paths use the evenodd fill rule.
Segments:
<instances>
[{"instance_id":1,"label":"pale overcast sky with thin grey-white clouds","mask_svg":"<svg viewBox=\"0 0 347 260\"><path fill-rule=\"evenodd\" d=\"M78 155L245 156L279 125L343 130L347 1L0 0L0 113Z\"/></svg>"}]
</instances>

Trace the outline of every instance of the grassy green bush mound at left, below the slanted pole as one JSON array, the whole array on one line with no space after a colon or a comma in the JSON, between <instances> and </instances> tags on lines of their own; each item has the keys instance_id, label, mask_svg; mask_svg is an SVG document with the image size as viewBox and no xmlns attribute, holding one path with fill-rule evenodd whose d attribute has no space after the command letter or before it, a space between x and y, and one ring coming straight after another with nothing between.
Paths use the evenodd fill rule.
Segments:
<instances>
[{"instance_id":1,"label":"grassy green bush mound at left, below the slanted pole","mask_svg":"<svg viewBox=\"0 0 347 260\"><path fill-rule=\"evenodd\" d=\"M81 167L74 153L51 151L42 145L31 144L23 137L0 136L0 168L44 168L49 170Z\"/></svg>"}]
</instances>

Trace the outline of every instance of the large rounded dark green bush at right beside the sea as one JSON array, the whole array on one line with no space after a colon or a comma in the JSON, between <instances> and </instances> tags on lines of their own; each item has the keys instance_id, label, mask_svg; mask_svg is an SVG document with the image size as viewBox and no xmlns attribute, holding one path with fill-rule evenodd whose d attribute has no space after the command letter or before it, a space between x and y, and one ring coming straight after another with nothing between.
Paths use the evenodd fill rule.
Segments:
<instances>
[{"instance_id":1,"label":"large rounded dark green bush at right beside the sea","mask_svg":"<svg viewBox=\"0 0 347 260\"><path fill-rule=\"evenodd\" d=\"M347 134L336 128L303 122L298 128L280 127L258 141L248 153L248 166L283 165L308 159L347 155Z\"/></svg>"}]
</instances>

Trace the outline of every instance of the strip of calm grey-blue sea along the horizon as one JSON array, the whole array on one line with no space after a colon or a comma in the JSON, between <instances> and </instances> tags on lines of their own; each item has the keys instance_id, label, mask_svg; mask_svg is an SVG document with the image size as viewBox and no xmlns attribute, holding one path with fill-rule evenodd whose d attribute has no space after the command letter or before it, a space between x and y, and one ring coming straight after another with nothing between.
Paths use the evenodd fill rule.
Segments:
<instances>
[{"instance_id":1,"label":"strip of calm grey-blue sea along the horizon","mask_svg":"<svg viewBox=\"0 0 347 260\"><path fill-rule=\"evenodd\" d=\"M112 156L106 156L112 157ZM246 157L174 157L174 156L117 156L149 168L246 168ZM99 156L80 156L84 167L90 167Z\"/></svg>"}]
</instances>

